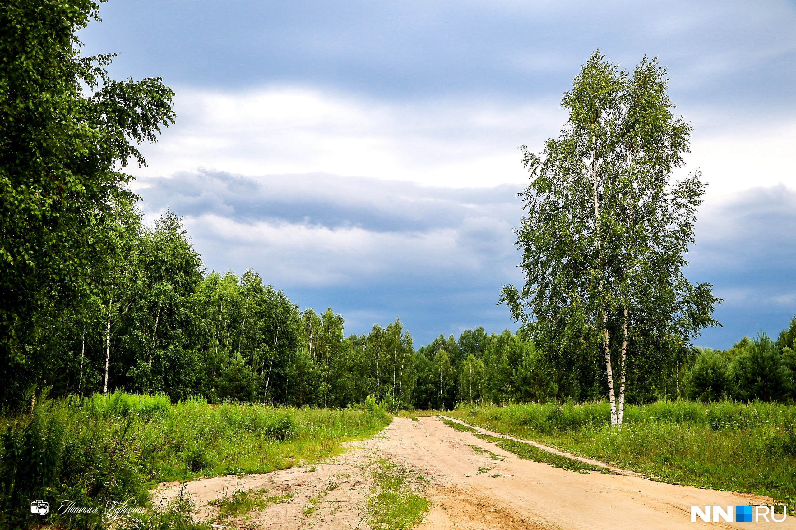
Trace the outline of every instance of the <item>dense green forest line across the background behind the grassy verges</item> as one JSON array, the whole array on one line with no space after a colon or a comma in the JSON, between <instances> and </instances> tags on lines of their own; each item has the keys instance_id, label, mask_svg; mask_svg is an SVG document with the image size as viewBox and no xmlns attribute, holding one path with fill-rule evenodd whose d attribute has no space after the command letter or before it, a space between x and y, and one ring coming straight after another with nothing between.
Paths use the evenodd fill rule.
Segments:
<instances>
[{"instance_id":1,"label":"dense green forest line across the background behind the grassy verges","mask_svg":"<svg viewBox=\"0 0 796 530\"><path fill-rule=\"evenodd\" d=\"M98 295L40 324L35 362L6 373L6 402L44 388L52 396L123 388L174 401L203 395L322 407L373 395L396 411L606 393L599 359L561 362L522 331L467 329L419 349L400 320L346 336L341 314L299 310L251 269L206 273L174 212L147 226L129 202L116 211L120 251ZM727 352L658 348L647 356L657 364L642 365L632 363L630 348L628 399L788 399L796 390L794 339L796 318L778 341L744 337Z\"/></svg>"}]
</instances>

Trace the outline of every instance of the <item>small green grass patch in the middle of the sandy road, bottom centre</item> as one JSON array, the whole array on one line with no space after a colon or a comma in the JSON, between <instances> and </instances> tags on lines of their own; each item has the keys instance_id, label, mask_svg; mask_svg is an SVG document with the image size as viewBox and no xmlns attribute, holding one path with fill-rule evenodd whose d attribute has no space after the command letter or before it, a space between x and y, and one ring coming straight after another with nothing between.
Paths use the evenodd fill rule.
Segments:
<instances>
[{"instance_id":1,"label":"small green grass patch in the middle of the sandy road, bottom centre","mask_svg":"<svg viewBox=\"0 0 796 530\"><path fill-rule=\"evenodd\" d=\"M425 495L427 480L386 458L372 470L374 484L366 515L373 530L408 530L423 521L429 510Z\"/></svg>"}]
</instances>

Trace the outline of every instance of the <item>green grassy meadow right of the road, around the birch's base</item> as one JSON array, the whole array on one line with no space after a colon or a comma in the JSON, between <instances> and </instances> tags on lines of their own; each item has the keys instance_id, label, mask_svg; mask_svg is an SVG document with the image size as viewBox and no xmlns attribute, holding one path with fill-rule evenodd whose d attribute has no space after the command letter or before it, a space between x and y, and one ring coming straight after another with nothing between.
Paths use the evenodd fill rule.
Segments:
<instances>
[{"instance_id":1,"label":"green grassy meadow right of the road, around the birch's base","mask_svg":"<svg viewBox=\"0 0 796 530\"><path fill-rule=\"evenodd\" d=\"M621 429L605 401L462 408L475 426L700 488L755 493L796 509L796 406L659 401L630 405Z\"/></svg>"}]
</instances>

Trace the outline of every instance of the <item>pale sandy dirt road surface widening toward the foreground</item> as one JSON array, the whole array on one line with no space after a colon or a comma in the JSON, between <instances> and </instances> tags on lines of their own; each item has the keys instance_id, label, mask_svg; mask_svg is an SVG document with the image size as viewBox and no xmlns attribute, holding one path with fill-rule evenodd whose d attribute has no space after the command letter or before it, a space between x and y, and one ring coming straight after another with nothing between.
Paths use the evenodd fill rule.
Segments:
<instances>
[{"instance_id":1,"label":"pale sandy dirt road surface widening toward the foreground","mask_svg":"<svg viewBox=\"0 0 796 530\"><path fill-rule=\"evenodd\" d=\"M488 431L487 431L488 432ZM475 446L475 447L474 447ZM489 453L497 456L494 459ZM746 523L691 522L691 505L770 503L755 497L649 481L630 475L572 473L529 462L469 433L455 431L436 418L395 418L392 425L313 473L294 468L264 475L218 477L190 482L186 489L198 506L197 517L212 518L206 501L222 497L224 488L268 487L295 493L290 503L271 506L253 519L234 521L260 528L368 528L362 516L371 482L367 462L376 456L401 462L431 480L435 508L422 526L508 530L525 528L749 528ZM328 485L334 485L329 490ZM166 497L178 493L168 485ZM306 515L311 499L318 509ZM781 514L779 515L782 516ZM771 517L769 517L771 519ZM763 518L752 528L796 528L796 517L783 523Z\"/></svg>"}]
</instances>

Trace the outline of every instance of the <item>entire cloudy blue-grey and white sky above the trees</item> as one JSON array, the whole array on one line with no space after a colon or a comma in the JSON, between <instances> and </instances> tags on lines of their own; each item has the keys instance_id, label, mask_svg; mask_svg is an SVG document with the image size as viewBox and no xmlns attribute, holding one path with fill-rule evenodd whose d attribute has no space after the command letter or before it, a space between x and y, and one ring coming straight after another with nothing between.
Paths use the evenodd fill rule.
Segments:
<instances>
[{"instance_id":1,"label":"entire cloudy blue-grey and white sky above the trees","mask_svg":"<svg viewBox=\"0 0 796 530\"><path fill-rule=\"evenodd\" d=\"M111 0L81 35L116 78L161 76L177 123L133 170L208 270L252 268L346 331L401 318L416 345L516 329L517 146L540 150L600 49L669 68L709 182L689 278L727 348L796 314L796 2Z\"/></svg>"}]
</instances>

